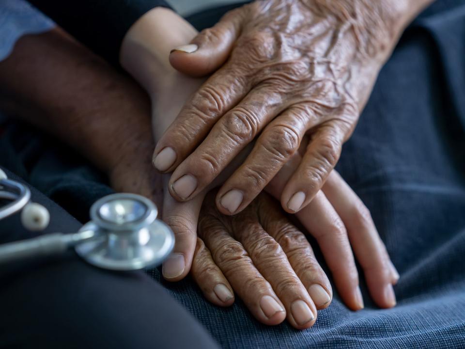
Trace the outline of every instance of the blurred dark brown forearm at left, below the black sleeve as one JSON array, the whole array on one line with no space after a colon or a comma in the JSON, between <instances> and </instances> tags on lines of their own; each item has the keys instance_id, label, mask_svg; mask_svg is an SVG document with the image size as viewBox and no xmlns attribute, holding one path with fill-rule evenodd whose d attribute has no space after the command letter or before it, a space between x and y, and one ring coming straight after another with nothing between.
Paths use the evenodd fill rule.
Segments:
<instances>
[{"instance_id":1,"label":"blurred dark brown forearm at left, below the black sleeve","mask_svg":"<svg viewBox=\"0 0 465 349\"><path fill-rule=\"evenodd\" d=\"M0 88L2 110L53 133L104 171L129 149L153 150L143 92L59 30L21 38L0 62Z\"/></svg>"}]
</instances>

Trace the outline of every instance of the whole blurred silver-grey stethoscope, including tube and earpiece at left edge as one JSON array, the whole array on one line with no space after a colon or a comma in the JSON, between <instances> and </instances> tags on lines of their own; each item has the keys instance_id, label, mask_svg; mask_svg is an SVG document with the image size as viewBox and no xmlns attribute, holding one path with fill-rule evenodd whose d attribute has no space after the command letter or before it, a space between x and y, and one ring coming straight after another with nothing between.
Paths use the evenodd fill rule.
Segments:
<instances>
[{"instance_id":1,"label":"whole blurred silver-grey stethoscope, including tube and earpiece at left edge","mask_svg":"<svg viewBox=\"0 0 465 349\"><path fill-rule=\"evenodd\" d=\"M31 191L8 179L0 169L0 220L21 211L21 222L29 230L43 230L50 215L42 205L31 203ZM149 199L128 193L111 194L96 201L91 222L77 233L52 233L0 245L0 264L40 255L62 254L74 247L85 261L110 270L155 267L171 253L174 235L157 220L158 211Z\"/></svg>"}]
</instances>

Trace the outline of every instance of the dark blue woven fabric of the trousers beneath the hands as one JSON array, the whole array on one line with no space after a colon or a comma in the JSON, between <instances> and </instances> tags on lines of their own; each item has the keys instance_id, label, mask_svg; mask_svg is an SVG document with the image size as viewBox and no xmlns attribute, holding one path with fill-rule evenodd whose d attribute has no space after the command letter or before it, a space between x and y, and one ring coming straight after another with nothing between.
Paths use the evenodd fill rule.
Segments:
<instances>
[{"instance_id":1,"label":"dark blue woven fabric of the trousers beneath the hands","mask_svg":"<svg viewBox=\"0 0 465 349\"><path fill-rule=\"evenodd\" d=\"M220 12L190 20L208 26ZM97 177L88 176L85 167L70 170L68 152L58 157L60 165L50 152L31 161L24 141L21 145L12 137L15 132L9 129L0 138L2 149L22 146L19 155L29 159L27 165L8 164L7 157L0 157L0 165L28 173L31 184L65 208L82 207L69 198L85 196L83 186L92 190L82 203L108 190L93 184ZM159 270L150 274L224 348L465 348L463 1L438 0L407 29L380 72L337 169L371 210L401 274L395 308L378 309L362 279L364 310L349 311L335 290L332 304L318 313L312 328L297 331L287 323L267 327L240 300L218 308L191 280L171 284L161 280Z\"/></svg>"}]
</instances>

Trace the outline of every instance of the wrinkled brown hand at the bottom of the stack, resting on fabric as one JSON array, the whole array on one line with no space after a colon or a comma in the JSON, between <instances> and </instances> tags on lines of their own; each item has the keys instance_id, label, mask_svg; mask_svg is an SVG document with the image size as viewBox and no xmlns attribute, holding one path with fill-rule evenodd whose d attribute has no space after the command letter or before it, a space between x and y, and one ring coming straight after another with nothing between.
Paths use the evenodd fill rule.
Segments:
<instances>
[{"instance_id":1,"label":"wrinkled brown hand at the bottom of the stack, resting on fabric","mask_svg":"<svg viewBox=\"0 0 465 349\"><path fill-rule=\"evenodd\" d=\"M287 318L304 329L315 323L317 308L331 302L331 286L309 242L269 195L226 216L215 207L215 192L208 193L198 234L191 274L212 303L231 305L234 290L259 321L276 325Z\"/></svg>"}]
</instances>

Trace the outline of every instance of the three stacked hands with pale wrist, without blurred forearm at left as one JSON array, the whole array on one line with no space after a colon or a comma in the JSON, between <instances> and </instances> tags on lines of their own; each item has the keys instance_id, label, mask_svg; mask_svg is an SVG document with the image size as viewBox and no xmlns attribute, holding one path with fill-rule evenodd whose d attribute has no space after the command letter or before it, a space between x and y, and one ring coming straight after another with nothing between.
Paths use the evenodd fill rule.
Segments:
<instances>
[{"instance_id":1,"label":"three stacked hands with pale wrist, without blurred forearm at left","mask_svg":"<svg viewBox=\"0 0 465 349\"><path fill-rule=\"evenodd\" d=\"M352 249L375 303L396 304L399 274L333 168L402 30L398 2L256 1L201 33L156 9L130 29L121 62L152 98L176 236L167 280L190 271L214 304L235 292L265 324L312 326L333 292L283 209L316 239L350 309L363 308ZM172 32L154 38L160 22Z\"/></svg>"}]
</instances>

